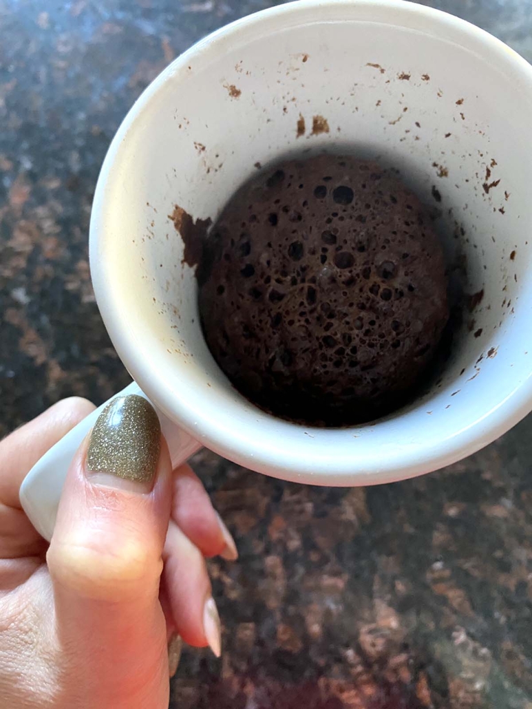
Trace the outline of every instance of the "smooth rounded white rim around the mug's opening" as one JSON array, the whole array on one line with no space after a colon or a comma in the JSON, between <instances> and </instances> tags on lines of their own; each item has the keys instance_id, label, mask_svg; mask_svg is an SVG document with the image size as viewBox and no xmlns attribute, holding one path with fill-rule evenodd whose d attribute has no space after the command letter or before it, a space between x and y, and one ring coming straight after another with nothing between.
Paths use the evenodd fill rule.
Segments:
<instances>
[{"instance_id":1,"label":"smooth rounded white rim around the mug's opening","mask_svg":"<svg viewBox=\"0 0 532 709\"><path fill-rule=\"evenodd\" d=\"M283 445L272 446L265 440L250 442L245 431L229 430L223 416L209 416L202 418L202 412L191 405L189 398L176 397L175 391L169 391L167 380L161 376L157 369L146 366L145 359L138 356L138 337L131 323L123 318L123 311L116 292L113 289L112 279L106 276L104 259L101 259L101 240L106 238L106 230L102 214L106 204L106 186L112 179L113 170L116 168L118 150L127 139L128 134L141 124L143 111L148 107L155 96L163 89L168 80L172 79L182 67L190 64L194 57L201 52L209 50L218 41L228 42L235 34L245 35L253 40L257 29L263 23L276 22L281 27L284 18L289 16L304 17L310 11L340 11L353 8L361 13L388 14L387 23L408 26L407 18L415 16L421 19L428 28L445 25L448 30L456 30L462 35L467 35L477 45L483 45L485 52L494 59L512 63L512 69L520 72L521 79L530 86L532 96L532 67L517 52L487 33L485 30L457 18L449 13L407 1L397 0L297 0L288 4L275 6L262 10L252 15L240 18L230 23L206 38L194 44L189 50L177 57L158 77L143 91L128 111L121 126L114 136L96 185L94 203L90 225L90 261L94 291L98 301L101 316L104 320L113 345L121 357L123 364L135 379L138 385L152 399L169 418L202 444L221 454L233 462L245 467L264 472L270 476L277 476L289 481L299 481L309 484L321 485L367 485L387 483L406 479L423 474L445 465L452 464L463 457L480 450L492 442L513 425L519 422L532 408L532 372L526 376L520 386L511 391L504 401L482 417L470 423L462 430L455 432L452 437L440 440L439 445L405 446L397 447L393 451L379 450L379 460L375 464L360 469L353 461L356 452L350 450L349 454L332 454L329 445L311 446L307 452L301 450L287 450ZM394 21L394 16L398 18ZM213 394L214 396L214 394ZM278 419L276 419L279 421ZM294 428L297 424L282 422ZM368 423L363 427L346 429L319 429L320 440L327 439L332 443L333 434L350 432L359 428L372 428L380 425L381 421ZM391 422L386 422L391 423ZM312 430L311 427L301 428L303 432ZM328 435L330 434L330 435ZM308 439L306 439L308 441ZM338 439L339 440L339 439ZM368 444L366 444L368 445ZM325 450L327 449L327 450ZM336 453L336 452L335 452Z\"/></svg>"}]
</instances>

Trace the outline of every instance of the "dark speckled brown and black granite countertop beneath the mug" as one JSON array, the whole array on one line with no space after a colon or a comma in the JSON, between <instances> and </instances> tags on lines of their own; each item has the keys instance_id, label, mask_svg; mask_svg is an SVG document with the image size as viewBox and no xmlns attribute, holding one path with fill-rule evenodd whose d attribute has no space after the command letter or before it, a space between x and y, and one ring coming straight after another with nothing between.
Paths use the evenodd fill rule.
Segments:
<instances>
[{"instance_id":1,"label":"dark speckled brown and black granite countertop beneath the mug","mask_svg":"<svg viewBox=\"0 0 532 709\"><path fill-rule=\"evenodd\" d=\"M0 435L125 386L87 233L114 131L179 52L267 0L0 0ZM532 0L434 4L532 60ZM464 462L368 489L195 459L240 561L210 562L224 652L179 709L532 709L532 418Z\"/></svg>"}]
</instances>

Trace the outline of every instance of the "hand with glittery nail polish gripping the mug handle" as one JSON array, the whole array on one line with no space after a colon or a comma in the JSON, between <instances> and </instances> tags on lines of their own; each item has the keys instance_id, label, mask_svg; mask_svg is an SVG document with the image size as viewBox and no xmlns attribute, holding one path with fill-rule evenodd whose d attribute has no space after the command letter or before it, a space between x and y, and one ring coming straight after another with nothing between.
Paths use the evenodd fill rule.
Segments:
<instances>
[{"instance_id":1,"label":"hand with glittery nail polish gripping the mug handle","mask_svg":"<svg viewBox=\"0 0 532 709\"><path fill-rule=\"evenodd\" d=\"M0 442L6 709L167 709L179 636L221 652L204 557L236 547L145 399L114 400L79 447L49 547L23 513L28 471L93 410L60 401Z\"/></svg>"}]
</instances>

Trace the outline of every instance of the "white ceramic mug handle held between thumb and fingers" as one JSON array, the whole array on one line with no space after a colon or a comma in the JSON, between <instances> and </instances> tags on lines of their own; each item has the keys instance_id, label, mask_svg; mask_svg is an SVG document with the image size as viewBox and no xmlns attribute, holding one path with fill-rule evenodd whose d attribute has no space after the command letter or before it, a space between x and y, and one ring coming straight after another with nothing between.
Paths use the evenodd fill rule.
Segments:
<instances>
[{"instance_id":1,"label":"white ceramic mug handle held between thumb and fingers","mask_svg":"<svg viewBox=\"0 0 532 709\"><path fill-rule=\"evenodd\" d=\"M128 396L128 394L138 394L150 401L148 396L139 388L134 381L126 389L116 394L116 396ZM113 401L113 396L109 401ZM30 522L41 536L48 542L52 539L52 532L55 526L57 507L61 497L63 484L67 476L67 470L77 449L87 433L92 429L96 418L107 406L109 401L103 403L96 411L84 418L77 426L72 428L67 435L58 441L43 457L35 463L31 471L26 475L21 485L19 497L21 505L28 515ZM192 436L185 433L170 418L168 418L157 406L150 401L157 412L161 424L162 434L165 436L170 450L172 467L177 468L189 457L201 448L201 444L194 440Z\"/></svg>"}]
</instances>

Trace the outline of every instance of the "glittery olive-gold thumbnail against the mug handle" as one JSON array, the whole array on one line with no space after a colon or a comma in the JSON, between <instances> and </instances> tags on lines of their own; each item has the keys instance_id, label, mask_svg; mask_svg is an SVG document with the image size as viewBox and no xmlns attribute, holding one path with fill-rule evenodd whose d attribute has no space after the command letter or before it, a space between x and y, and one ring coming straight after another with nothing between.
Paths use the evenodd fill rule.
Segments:
<instances>
[{"instance_id":1,"label":"glittery olive-gold thumbnail against the mug handle","mask_svg":"<svg viewBox=\"0 0 532 709\"><path fill-rule=\"evenodd\" d=\"M123 487L120 481L126 481L151 489L160 446L161 427L153 406L136 394L118 396L104 408L92 429L88 474L99 484Z\"/></svg>"}]
</instances>

